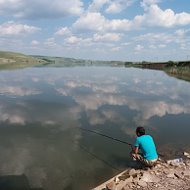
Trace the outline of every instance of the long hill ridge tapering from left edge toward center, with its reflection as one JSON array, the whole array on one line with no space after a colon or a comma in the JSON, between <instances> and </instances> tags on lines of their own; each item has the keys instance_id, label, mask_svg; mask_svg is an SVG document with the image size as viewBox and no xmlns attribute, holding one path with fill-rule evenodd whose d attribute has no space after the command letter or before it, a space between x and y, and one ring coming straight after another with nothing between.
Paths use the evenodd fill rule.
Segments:
<instances>
[{"instance_id":1,"label":"long hill ridge tapering from left edge toward center, with its reflection","mask_svg":"<svg viewBox=\"0 0 190 190\"><path fill-rule=\"evenodd\" d=\"M70 66L125 66L122 61L95 61L66 57L24 55L22 53L0 51L0 69L15 69L31 66L70 67Z\"/></svg>"}]
</instances>

